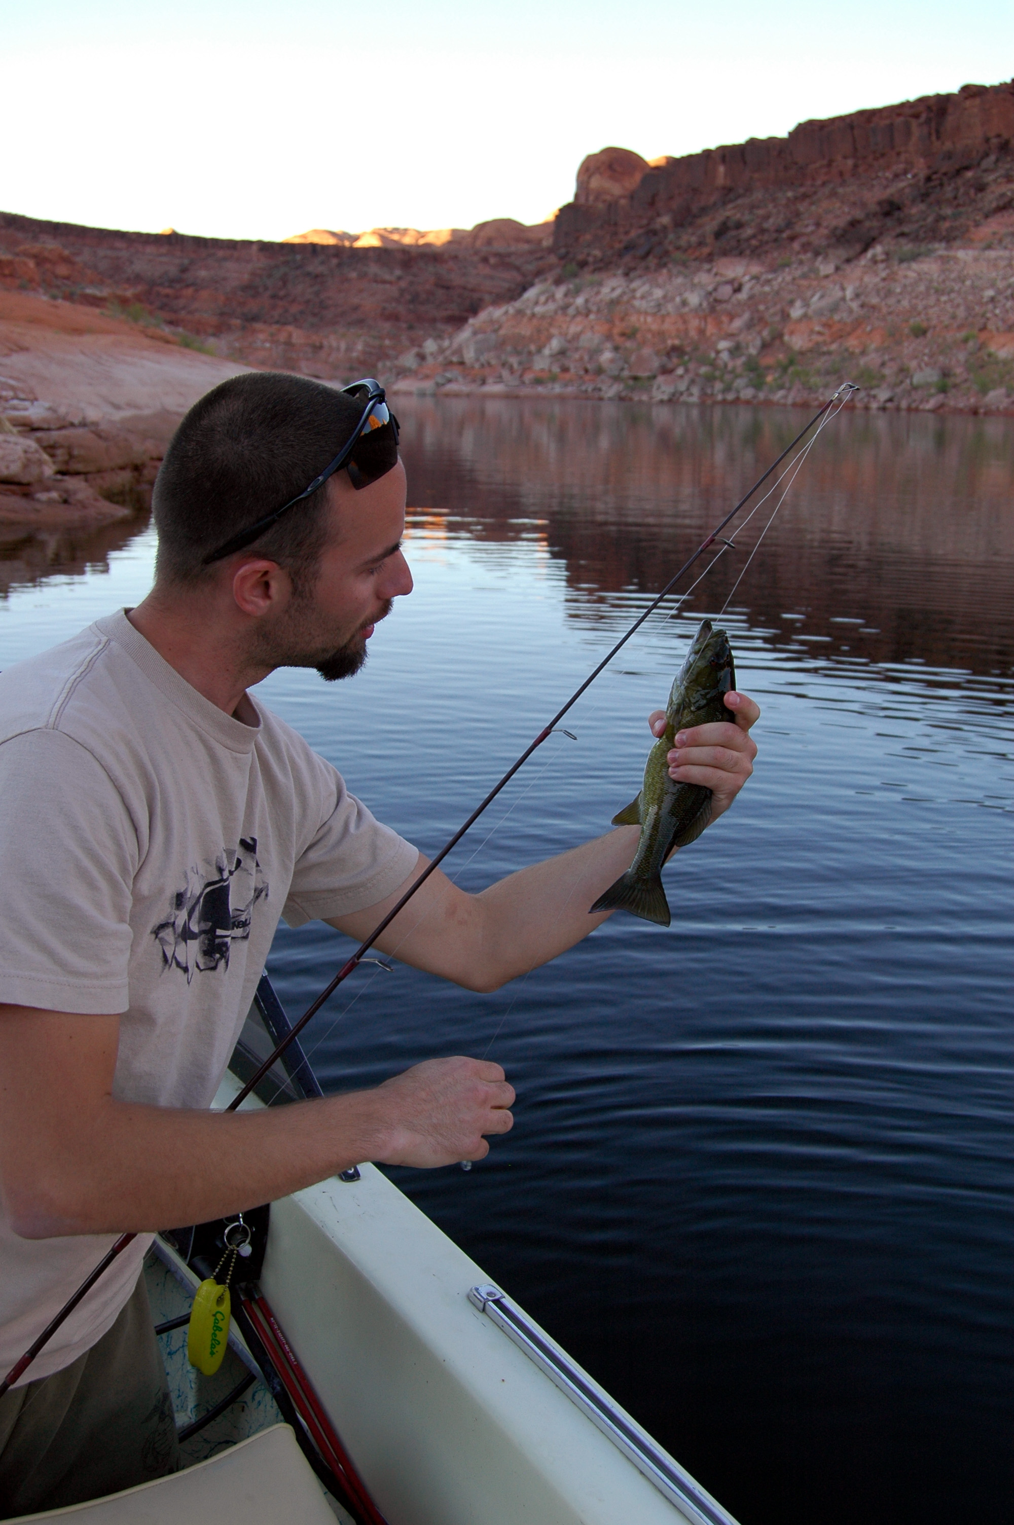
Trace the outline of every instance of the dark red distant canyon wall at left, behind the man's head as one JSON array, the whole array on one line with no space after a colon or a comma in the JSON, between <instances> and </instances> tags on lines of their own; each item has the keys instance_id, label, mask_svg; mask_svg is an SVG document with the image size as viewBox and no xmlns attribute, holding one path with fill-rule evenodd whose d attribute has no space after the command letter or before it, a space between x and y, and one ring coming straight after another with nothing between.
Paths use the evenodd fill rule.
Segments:
<instances>
[{"instance_id":1,"label":"dark red distant canyon wall at left, behind the man's head","mask_svg":"<svg viewBox=\"0 0 1014 1525\"><path fill-rule=\"evenodd\" d=\"M445 340L550 268L550 229L511 226L523 236L480 224L448 259L454 242L238 242L0 214L0 288L113 311L151 339L227 360L346 381L396 374L396 355Z\"/></svg>"}]
</instances>

